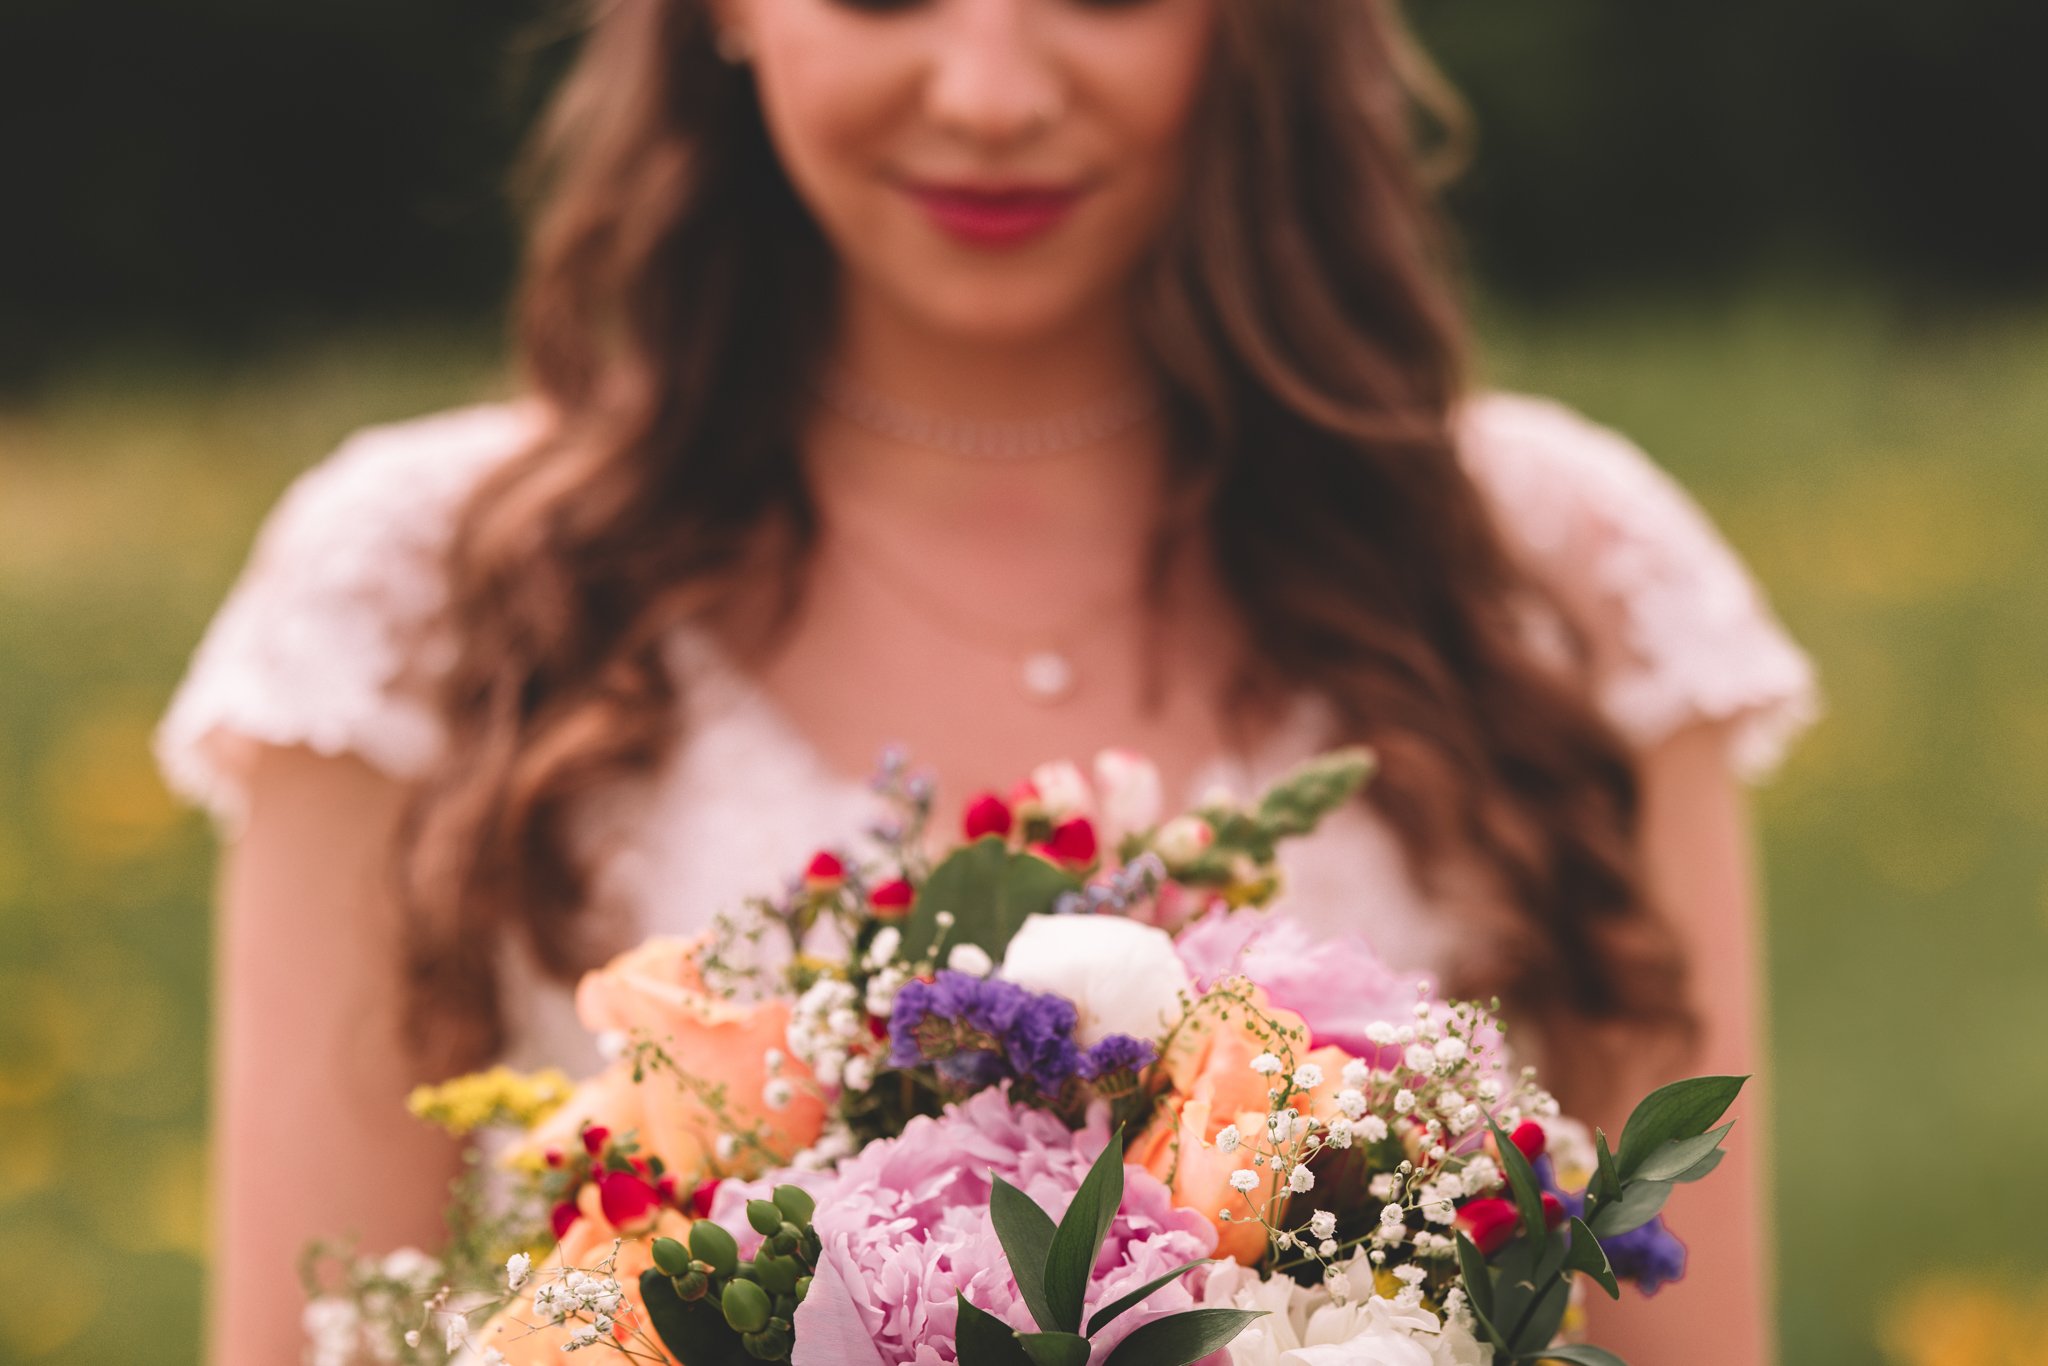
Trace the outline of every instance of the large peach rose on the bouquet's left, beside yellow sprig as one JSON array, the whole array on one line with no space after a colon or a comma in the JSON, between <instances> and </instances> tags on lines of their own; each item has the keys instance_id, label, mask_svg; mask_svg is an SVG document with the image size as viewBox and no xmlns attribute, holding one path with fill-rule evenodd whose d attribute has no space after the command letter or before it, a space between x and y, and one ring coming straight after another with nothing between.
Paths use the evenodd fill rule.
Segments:
<instances>
[{"instance_id":1,"label":"large peach rose on the bouquet's left, beside yellow sprig","mask_svg":"<svg viewBox=\"0 0 2048 1366\"><path fill-rule=\"evenodd\" d=\"M788 1051L788 1001L729 1001L705 987L698 954L707 940L653 938L584 975L575 1012L592 1032L618 1032L662 1047L682 1073L649 1059L633 1081L625 1057L582 1083L532 1128L522 1153L573 1151L586 1124L614 1135L635 1130L641 1151L659 1157L684 1190L713 1173L721 1133L752 1130L776 1161L809 1147L825 1122L825 1102L809 1069L784 1057L776 1077L795 1096L772 1108L764 1098L770 1051ZM739 1167L766 1165L758 1149L741 1147Z\"/></svg>"}]
</instances>

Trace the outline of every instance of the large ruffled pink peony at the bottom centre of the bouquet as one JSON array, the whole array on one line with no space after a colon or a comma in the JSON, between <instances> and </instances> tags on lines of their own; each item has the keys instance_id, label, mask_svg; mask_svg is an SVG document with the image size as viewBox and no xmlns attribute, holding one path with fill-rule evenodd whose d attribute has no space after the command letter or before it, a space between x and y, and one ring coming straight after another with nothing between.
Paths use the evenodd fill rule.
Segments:
<instances>
[{"instance_id":1,"label":"large ruffled pink peony at the bottom centre of the bouquet","mask_svg":"<svg viewBox=\"0 0 2048 1366\"><path fill-rule=\"evenodd\" d=\"M954 1294L1032 1331L995 1227L989 1178L1001 1176L1055 1219L1108 1143L1102 1108L1079 1133L1042 1110L981 1092L940 1118L911 1120L901 1139L868 1145L834 1176L797 1176L817 1196L823 1257L797 1309L793 1366L948 1366L954 1362ZM782 1180L782 1178L776 1178ZM727 1182L713 1219L748 1229L745 1200L774 1180ZM760 1237L741 1239L750 1253ZM1124 1167L1124 1202L1096 1262L1087 1313L1217 1245L1208 1221L1174 1208L1167 1188ZM1108 1356L1141 1323L1194 1305L1188 1278L1155 1290L1096 1337Z\"/></svg>"}]
</instances>

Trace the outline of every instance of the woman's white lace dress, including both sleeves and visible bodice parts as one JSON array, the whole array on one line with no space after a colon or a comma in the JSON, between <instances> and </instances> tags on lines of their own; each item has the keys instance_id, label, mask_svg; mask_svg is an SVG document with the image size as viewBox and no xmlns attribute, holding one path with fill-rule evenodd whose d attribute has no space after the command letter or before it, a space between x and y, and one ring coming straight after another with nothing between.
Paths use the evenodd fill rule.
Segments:
<instances>
[{"instance_id":1,"label":"woman's white lace dress, including both sleeves and visible bodice parts","mask_svg":"<svg viewBox=\"0 0 2048 1366\"><path fill-rule=\"evenodd\" d=\"M432 764L432 680L453 653L440 553L467 492L535 422L514 403L365 430L270 514L158 731L170 784L229 838L258 745L354 754L395 778ZM1729 721L1731 760L1763 776L1815 715L1812 670L1694 502L1626 438L1546 399L1473 399L1460 446L1511 551L1591 641L1597 702L1620 731L1653 745ZM600 895L649 934L702 928L877 815L866 786L831 772L707 639L678 637L672 661L688 682L684 741L651 788L582 813ZM1249 793L1321 745L1305 702L1262 754L1219 756L1186 797ZM1432 907L1366 809L1296 842L1284 870L1288 905L1315 928L1364 930L1401 967L1442 971L1460 952L1460 920ZM590 1067L567 989L518 954L506 973L508 1061Z\"/></svg>"}]
</instances>

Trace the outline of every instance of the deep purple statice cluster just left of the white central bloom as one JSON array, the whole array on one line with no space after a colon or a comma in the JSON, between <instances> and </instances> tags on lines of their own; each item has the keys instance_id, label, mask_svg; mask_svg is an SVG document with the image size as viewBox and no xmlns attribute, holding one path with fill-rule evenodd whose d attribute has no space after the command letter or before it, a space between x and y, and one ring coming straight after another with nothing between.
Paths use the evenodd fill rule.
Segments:
<instances>
[{"instance_id":1,"label":"deep purple statice cluster just left of the white central bloom","mask_svg":"<svg viewBox=\"0 0 2048 1366\"><path fill-rule=\"evenodd\" d=\"M981 1087L1020 1077L1057 1092L1081 1073L1073 1001L1014 981L940 971L897 991L889 1065L934 1063L950 1081Z\"/></svg>"}]
</instances>

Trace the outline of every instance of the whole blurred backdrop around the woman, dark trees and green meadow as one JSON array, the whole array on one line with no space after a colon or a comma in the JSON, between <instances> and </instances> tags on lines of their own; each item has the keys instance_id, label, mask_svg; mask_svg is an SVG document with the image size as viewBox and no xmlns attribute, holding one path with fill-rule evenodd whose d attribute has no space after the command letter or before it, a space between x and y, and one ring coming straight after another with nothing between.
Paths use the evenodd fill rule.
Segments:
<instances>
[{"instance_id":1,"label":"whole blurred backdrop around the woman, dark trees and green meadow","mask_svg":"<svg viewBox=\"0 0 2048 1366\"><path fill-rule=\"evenodd\" d=\"M1827 684L1759 803L1784 1360L2048 1362L2048 8L1415 18L1491 379L1655 453ZM293 473L502 389L563 33L0 12L0 1362L199 1360L213 846L150 727Z\"/></svg>"}]
</instances>

